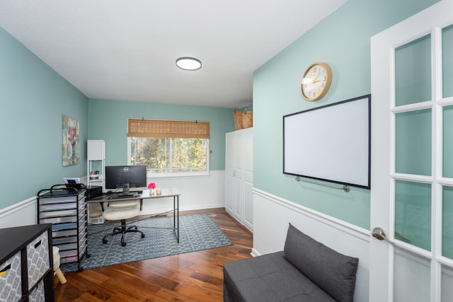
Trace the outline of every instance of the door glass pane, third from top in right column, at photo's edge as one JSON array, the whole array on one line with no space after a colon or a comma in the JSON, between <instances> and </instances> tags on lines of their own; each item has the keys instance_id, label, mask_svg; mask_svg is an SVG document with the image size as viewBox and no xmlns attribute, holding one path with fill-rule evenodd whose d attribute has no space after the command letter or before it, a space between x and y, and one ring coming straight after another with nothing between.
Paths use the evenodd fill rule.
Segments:
<instances>
[{"instance_id":1,"label":"door glass pane, third from top in right column, at photo's edge","mask_svg":"<svg viewBox=\"0 0 453 302\"><path fill-rule=\"evenodd\" d=\"M453 259L453 187L443 187L442 255Z\"/></svg>"}]
</instances>

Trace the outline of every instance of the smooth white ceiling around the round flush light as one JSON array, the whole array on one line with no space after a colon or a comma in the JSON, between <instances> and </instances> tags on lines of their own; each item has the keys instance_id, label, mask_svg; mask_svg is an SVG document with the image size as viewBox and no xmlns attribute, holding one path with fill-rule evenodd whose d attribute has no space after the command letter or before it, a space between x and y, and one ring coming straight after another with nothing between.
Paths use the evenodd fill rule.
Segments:
<instances>
[{"instance_id":1,"label":"smooth white ceiling around the round flush light","mask_svg":"<svg viewBox=\"0 0 453 302\"><path fill-rule=\"evenodd\" d=\"M88 98L243 108L253 71L346 1L0 0L0 26Z\"/></svg>"}]
</instances>

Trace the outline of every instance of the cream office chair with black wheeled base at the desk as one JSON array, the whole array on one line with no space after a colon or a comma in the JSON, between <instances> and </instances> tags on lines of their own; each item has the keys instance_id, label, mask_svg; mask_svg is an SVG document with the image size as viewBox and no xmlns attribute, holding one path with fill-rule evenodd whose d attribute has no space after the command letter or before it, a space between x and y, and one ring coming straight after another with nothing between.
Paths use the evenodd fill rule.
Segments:
<instances>
[{"instance_id":1,"label":"cream office chair with black wheeled base at the desk","mask_svg":"<svg viewBox=\"0 0 453 302\"><path fill-rule=\"evenodd\" d=\"M124 202L109 202L109 205L103 211L105 220L120 220L121 227L113 228L113 233L104 236L102 243L107 243L108 236L115 236L121 234L121 245L126 246L125 233L141 233L144 238L144 233L137 229L137 226L127 226L126 219L134 218L140 213L139 200L128 200Z\"/></svg>"}]
</instances>

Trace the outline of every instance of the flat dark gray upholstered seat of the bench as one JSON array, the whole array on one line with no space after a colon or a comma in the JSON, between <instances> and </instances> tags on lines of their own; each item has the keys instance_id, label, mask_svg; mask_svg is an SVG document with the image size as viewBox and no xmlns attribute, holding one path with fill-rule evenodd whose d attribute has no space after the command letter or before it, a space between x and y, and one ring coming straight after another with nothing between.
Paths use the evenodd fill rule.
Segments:
<instances>
[{"instance_id":1,"label":"flat dark gray upholstered seat of the bench","mask_svg":"<svg viewBox=\"0 0 453 302\"><path fill-rule=\"evenodd\" d=\"M282 257L283 252L224 265L224 302L334 302Z\"/></svg>"}]
</instances>

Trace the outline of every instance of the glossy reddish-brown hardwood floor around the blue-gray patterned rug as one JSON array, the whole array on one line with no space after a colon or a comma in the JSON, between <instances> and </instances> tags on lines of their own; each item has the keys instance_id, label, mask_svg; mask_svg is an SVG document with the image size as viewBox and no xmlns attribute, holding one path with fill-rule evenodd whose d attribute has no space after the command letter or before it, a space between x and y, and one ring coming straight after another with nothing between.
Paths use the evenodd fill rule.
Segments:
<instances>
[{"instance_id":1,"label":"glossy reddish-brown hardwood floor around the blue-gray patterned rug","mask_svg":"<svg viewBox=\"0 0 453 302\"><path fill-rule=\"evenodd\" d=\"M207 213L233 245L199 252L84 269L55 279L56 301L223 301L225 262L251 257L253 236L223 208L182 211ZM125 247L127 248L127 246Z\"/></svg>"}]
</instances>

